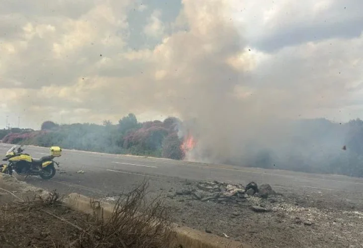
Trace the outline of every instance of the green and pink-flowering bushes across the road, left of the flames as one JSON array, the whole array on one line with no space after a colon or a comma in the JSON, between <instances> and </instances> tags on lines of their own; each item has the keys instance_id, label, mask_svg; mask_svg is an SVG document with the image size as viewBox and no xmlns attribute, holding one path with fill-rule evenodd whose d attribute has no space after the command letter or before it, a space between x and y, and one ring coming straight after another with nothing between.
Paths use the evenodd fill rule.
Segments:
<instances>
[{"instance_id":1,"label":"green and pink-flowering bushes across the road, left of the flames","mask_svg":"<svg viewBox=\"0 0 363 248\"><path fill-rule=\"evenodd\" d=\"M11 144L61 146L115 154L182 159L181 138L178 137L180 120L169 117L162 121L140 123L132 113L121 118L117 124L103 121L97 124L56 124L46 121L41 130L3 130L2 142ZM2 137L1 137L2 135Z\"/></svg>"}]
</instances>

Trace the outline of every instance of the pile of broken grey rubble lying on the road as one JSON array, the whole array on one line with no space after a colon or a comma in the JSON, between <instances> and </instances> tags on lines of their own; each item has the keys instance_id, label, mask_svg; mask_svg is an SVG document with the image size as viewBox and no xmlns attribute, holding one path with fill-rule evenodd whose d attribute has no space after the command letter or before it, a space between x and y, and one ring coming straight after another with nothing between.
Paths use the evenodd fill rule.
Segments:
<instances>
[{"instance_id":1,"label":"pile of broken grey rubble lying on the road","mask_svg":"<svg viewBox=\"0 0 363 248\"><path fill-rule=\"evenodd\" d=\"M268 184L257 186L255 182L246 187L240 184L227 184L224 182L198 182L190 184L188 188L177 190L175 194L168 195L170 198L189 196L195 200L212 201L220 204L245 202L251 197L268 198L275 195L272 187ZM261 209L259 209L260 211Z\"/></svg>"}]
</instances>

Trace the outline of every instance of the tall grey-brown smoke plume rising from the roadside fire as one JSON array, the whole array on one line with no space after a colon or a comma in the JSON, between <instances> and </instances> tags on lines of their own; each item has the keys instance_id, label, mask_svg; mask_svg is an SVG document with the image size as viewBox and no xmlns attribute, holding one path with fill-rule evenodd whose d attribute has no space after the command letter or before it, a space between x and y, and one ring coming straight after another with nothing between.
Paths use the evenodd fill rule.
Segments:
<instances>
[{"instance_id":1,"label":"tall grey-brown smoke plume rising from the roadside fire","mask_svg":"<svg viewBox=\"0 0 363 248\"><path fill-rule=\"evenodd\" d=\"M184 129L197 139L186 159L286 168L316 165L339 153L342 128L324 134L319 133L329 126L324 121L294 120L319 116L342 102L344 85L310 78L310 65L302 63L304 46L258 61L228 18L229 6L211 2L202 8L198 1L184 1L190 31L167 42L175 61L182 62L172 63L182 73L165 79L179 95L172 106L183 120L193 120ZM289 61L278 58L288 53ZM319 58L312 55L314 60Z\"/></svg>"}]
</instances>

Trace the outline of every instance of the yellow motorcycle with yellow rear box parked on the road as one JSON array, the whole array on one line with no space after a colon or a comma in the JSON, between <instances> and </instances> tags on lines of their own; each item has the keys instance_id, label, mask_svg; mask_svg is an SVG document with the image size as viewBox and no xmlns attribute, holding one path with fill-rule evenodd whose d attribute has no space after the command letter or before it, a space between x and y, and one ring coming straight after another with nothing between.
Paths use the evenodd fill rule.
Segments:
<instances>
[{"instance_id":1,"label":"yellow motorcycle with yellow rear box parked on the road","mask_svg":"<svg viewBox=\"0 0 363 248\"><path fill-rule=\"evenodd\" d=\"M5 154L2 161L8 164L0 165L0 172L12 175L15 171L21 176L40 176L42 179L51 179L56 174L54 165L59 167L59 163L54 161L55 157L62 155L62 149L58 146L50 147L50 155L41 159L34 159L29 154L23 153L23 145L14 145Z\"/></svg>"}]
</instances>

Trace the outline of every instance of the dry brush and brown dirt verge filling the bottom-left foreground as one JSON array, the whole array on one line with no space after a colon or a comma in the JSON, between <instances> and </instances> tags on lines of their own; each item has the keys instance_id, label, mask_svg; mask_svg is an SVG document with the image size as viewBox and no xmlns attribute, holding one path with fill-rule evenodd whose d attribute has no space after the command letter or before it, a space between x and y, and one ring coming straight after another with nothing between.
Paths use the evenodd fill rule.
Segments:
<instances>
[{"instance_id":1,"label":"dry brush and brown dirt verge filling the bottom-left foreground","mask_svg":"<svg viewBox=\"0 0 363 248\"><path fill-rule=\"evenodd\" d=\"M75 212L53 191L0 206L2 247L170 248L173 233L163 200L147 200L143 182L120 197L109 219Z\"/></svg>"}]
</instances>

